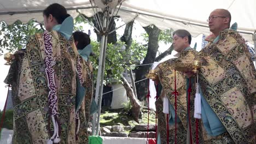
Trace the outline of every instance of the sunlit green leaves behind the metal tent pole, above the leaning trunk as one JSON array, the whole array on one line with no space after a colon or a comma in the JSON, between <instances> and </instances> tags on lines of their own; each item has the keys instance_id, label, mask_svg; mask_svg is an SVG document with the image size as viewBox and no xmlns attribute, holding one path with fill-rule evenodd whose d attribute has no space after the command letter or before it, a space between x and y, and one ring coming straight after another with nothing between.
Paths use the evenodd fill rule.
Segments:
<instances>
[{"instance_id":1,"label":"sunlit green leaves behind the metal tent pole, above the leaning trunk","mask_svg":"<svg viewBox=\"0 0 256 144\"><path fill-rule=\"evenodd\" d=\"M94 67L94 75L97 75L98 70L98 57L100 57L100 44L97 41L91 41L92 50L95 53L94 57L91 57L92 66ZM129 49L123 50L125 44L121 41L117 41L115 45L108 44L106 52L106 65L104 73L104 84L112 82L121 82L121 75L124 70L130 70L129 65L139 63L145 56L147 48L142 44L132 42ZM96 80L96 79L95 79Z\"/></svg>"}]
</instances>

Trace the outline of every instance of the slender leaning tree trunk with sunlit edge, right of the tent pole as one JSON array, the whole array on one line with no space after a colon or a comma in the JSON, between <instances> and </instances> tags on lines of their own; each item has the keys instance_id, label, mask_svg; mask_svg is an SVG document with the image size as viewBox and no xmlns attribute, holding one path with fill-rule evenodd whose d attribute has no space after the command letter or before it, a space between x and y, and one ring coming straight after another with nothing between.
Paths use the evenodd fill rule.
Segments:
<instances>
[{"instance_id":1,"label":"slender leaning tree trunk with sunlit edge, right of the tent pole","mask_svg":"<svg viewBox=\"0 0 256 144\"><path fill-rule=\"evenodd\" d=\"M133 89L131 88L129 82L125 79L124 76L122 76L121 80L123 81L123 85L126 90L127 97L130 99L130 102L132 105L132 109L131 109L132 117L137 123L139 123L138 119L139 119L139 112L141 112L141 105L139 104L138 99L136 99Z\"/></svg>"}]
</instances>

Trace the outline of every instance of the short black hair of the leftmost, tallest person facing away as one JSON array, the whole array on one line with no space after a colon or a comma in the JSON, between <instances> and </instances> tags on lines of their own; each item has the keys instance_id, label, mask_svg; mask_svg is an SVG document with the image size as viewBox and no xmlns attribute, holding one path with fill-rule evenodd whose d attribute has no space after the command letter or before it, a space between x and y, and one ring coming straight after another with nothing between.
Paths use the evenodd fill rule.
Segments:
<instances>
[{"instance_id":1,"label":"short black hair of the leftmost, tallest person facing away","mask_svg":"<svg viewBox=\"0 0 256 144\"><path fill-rule=\"evenodd\" d=\"M53 17L55 17L59 24L61 24L68 16L70 16L67 13L65 7L63 7L59 3L51 4L46 9L44 9L43 15L48 17L50 14L53 15Z\"/></svg>"}]
</instances>

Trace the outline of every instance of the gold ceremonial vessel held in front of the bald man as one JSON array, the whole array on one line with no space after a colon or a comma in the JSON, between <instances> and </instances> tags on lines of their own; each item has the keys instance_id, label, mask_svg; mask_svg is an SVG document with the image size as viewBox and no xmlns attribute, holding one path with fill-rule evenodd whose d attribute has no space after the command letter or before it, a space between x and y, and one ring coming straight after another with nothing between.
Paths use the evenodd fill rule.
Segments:
<instances>
[{"instance_id":1,"label":"gold ceremonial vessel held in front of the bald man","mask_svg":"<svg viewBox=\"0 0 256 144\"><path fill-rule=\"evenodd\" d=\"M194 73L197 73L197 70L200 69L202 66L202 62L195 60L192 63L174 63L173 68L177 71L182 72L189 72L193 71Z\"/></svg>"}]
</instances>

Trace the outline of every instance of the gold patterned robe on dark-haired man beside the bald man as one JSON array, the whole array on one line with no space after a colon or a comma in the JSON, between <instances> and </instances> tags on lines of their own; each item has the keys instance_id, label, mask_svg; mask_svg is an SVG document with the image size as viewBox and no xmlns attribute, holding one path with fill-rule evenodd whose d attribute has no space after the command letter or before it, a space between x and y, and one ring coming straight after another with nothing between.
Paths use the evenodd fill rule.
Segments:
<instances>
[{"instance_id":1,"label":"gold patterned robe on dark-haired man beside the bald man","mask_svg":"<svg viewBox=\"0 0 256 144\"><path fill-rule=\"evenodd\" d=\"M161 91L161 97L156 100L156 113L158 115L158 134L160 134L161 143L167 143L166 136L166 118L165 114L162 112L162 98L164 95L167 96L172 107L175 109L175 99L174 99L174 68L175 63L190 63L195 57L196 51L186 49L182 51L178 58L169 59L158 65L155 69L158 71L159 82L162 86L163 91ZM186 143L187 140L187 79L184 74L180 71L176 71L176 83L177 83L177 116L181 119L181 122L177 124L177 143ZM194 93L194 89L193 92ZM191 94L193 95L193 94ZM170 114L171 115L171 114ZM174 125L170 125L169 133L169 143L174 142Z\"/></svg>"}]
</instances>

